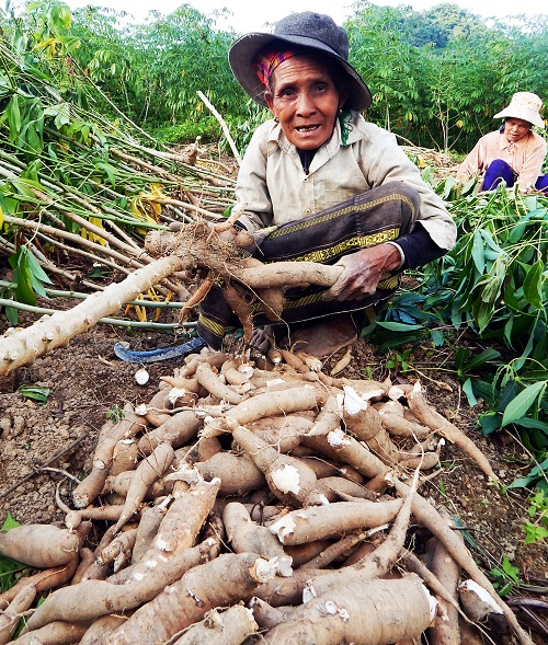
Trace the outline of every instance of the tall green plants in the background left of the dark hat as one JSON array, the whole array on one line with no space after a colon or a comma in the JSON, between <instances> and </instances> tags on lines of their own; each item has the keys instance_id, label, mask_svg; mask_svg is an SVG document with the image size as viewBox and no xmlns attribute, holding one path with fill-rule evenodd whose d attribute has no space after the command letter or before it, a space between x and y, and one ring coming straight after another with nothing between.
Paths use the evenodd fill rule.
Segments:
<instances>
[{"instance_id":1,"label":"tall green plants in the background left of the dark hat","mask_svg":"<svg viewBox=\"0 0 548 645\"><path fill-rule=\"evenodd\" d=\"M199 120L198 90L220 112L235 104L238 85L226 62L233 35L215 31L189 4L150 15L145 24L118 26L96 8L75 12L72 32L85 43L79 65L112 101L149 128Z\"/></svg>"}]
</instances>

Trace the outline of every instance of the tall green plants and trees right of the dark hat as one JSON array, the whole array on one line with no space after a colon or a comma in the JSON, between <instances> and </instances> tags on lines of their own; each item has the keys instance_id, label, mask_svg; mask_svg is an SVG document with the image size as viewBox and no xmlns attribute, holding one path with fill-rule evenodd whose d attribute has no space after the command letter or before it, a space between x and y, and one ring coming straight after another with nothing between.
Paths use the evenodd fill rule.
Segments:
<instances>
[{"instance_id":1,"label":"tall green plants and trees right of the dark hat","mask_svg":"<svg viewBox=\"0 0 548 645\"><path fill-rule=\"evenodd\" d=\"M467 152L514 92L547 94L547 16L488 26L448 3L416 12L362 1L354 11L345 26L374 94L367 116L415 145Z\"/></svg>"}]
</instances>

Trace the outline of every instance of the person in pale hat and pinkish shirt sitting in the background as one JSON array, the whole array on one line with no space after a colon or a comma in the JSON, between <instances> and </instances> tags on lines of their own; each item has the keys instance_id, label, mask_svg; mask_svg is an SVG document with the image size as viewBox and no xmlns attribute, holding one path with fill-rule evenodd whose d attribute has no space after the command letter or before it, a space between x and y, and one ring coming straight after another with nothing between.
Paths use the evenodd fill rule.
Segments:
<instances>
[{"instance_id":1,"label":"person in pale hat and pinkish shirt sitting in the background","mask_svg":"<svg viewBox=\"0 0 548 645\"><path fill-rule=\"evenodd\" d=\"M521 192L548 193L548 175L541 175L546 159L546 141L530 128L545 127L540 116L543 102L532 92L516 92L510 105L493 118L504 118L498 130L489 133L457 170L457 180L480 177L484 191L493 191L504 182L510 188L517 184Z\"/></svg>"}]
</instances>

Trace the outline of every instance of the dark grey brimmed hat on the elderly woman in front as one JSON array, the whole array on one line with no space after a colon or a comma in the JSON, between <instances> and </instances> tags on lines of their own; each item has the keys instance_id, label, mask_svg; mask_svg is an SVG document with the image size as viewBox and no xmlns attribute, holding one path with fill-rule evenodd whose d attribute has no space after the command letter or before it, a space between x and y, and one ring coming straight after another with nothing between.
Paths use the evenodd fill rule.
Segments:
<instances>
[{"instance_id":1,"label":"dark grey brimmed hat on the elderly woman in front","mask_svg":"<svg viewBox=\"0 0 548 645\"><path fill-rule=\"evenodd\" d=\"M366 110L372 104L372 93L362 77L349 62L349 36L332 18L313 11L293 13L279 20L273 33L246 34L230 47L228 61L237 81L258 103L266 106L265 87L259 80L253 61L267 46L287 48L290 45L322 51L339 62L350 80L345 106Z\"/></svg>"}]
</instances>

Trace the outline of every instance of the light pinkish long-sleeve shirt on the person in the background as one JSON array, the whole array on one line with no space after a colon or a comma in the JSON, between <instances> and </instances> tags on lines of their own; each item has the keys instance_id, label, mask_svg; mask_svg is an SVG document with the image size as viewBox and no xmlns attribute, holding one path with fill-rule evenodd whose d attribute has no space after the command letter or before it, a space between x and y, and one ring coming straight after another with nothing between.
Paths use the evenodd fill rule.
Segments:
<instances>
[{"instance_id":1,"label":"light pinkish long-sleeve shirt on the person in the background","mask_svg":"<svg viewBox=\"0 0 548 645\"><path fill-rule=\"evenodd\" d=\"M511 143L504 133L494 130L481 137L457 170L457 180L467 182L473 175L482 177L494 159L505 161L514 172L520 191L534 186L546 158L546 141L536 133Z\"/></svg>"}]
</instances>

